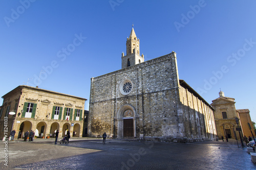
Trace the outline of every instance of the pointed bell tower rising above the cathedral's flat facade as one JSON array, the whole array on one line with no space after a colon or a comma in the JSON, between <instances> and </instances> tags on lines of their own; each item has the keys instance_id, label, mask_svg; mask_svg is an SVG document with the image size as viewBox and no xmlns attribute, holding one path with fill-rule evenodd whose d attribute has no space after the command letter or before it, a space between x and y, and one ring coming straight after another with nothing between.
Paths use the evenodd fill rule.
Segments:
<instances>
[{"instance_id":1,"label":"pointed bell tower rising above the cathedral's flat facade","mask_svg":"<svg viewBox=\"0 0 256 170\"><path fill-rule=\"evenodd\" d=\"M122 53L122 68L144 62L143 54L140 56L140 40L132 28L129 38L126 40L126 56Z\"/></svg>"}]
</instances>

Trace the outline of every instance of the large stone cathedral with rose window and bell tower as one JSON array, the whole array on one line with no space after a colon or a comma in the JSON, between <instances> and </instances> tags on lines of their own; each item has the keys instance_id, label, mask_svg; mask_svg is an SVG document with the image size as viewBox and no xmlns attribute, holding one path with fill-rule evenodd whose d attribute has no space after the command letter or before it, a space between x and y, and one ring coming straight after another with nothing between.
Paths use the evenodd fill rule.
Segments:
<instances>
[{"instance_id":1,"label":"large stone cathedral with rose window and bell tower","mask_svg":"<svg viewBox=\"0 0 256 170\"><path fill-rule=\"evenodd\" d=\"M179 79L176 53L144 61L132 28L122 69L91 79L90 137L191 142L216 137L214 109Z\"/></svg>"}]
</instances>

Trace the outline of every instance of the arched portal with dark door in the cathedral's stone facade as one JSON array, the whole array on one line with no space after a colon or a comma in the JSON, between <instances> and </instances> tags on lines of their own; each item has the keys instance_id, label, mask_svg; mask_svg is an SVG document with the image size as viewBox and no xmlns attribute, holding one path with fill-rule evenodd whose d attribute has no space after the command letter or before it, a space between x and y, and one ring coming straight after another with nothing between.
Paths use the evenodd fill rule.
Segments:
<instances>
[{"instance_id":1,"label":"arched portal with dark door in the cathedral's stone facade","mask_svg":"<svg viewBox=\"0 0 256 170\"><path fill-rule=\"evenodd\" d=\"M117 112L117 138L136 137L136 111L132 105L123 105Z\"/></svg>"}]
</instances>

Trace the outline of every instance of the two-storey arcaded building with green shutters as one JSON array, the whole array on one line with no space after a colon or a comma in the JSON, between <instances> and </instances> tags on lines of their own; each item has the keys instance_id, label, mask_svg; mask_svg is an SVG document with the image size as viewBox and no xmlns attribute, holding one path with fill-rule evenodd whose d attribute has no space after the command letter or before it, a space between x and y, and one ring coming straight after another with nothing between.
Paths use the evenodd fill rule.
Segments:
<instances>
[{"instance_id":1,"label":"two-storey arcaded building with green shutters","mask_svg":"<svg viewBox=\"0 0 256 170\"><path fill-rule=\"evenodd\" d=\"M54 136L55 130L59 130L59 136L64 136L67 130L71 136L82 136L87 99L25 85L16 87L2 98L0 124L8 122L8 137L11 129L16 131L15 138L19 130L22 132L20 137L31 130L38 137ZM10 112L15 114L10 115ZM0 138L4 137L5 130L4 126L0 127Z\"/></svg>"}]
</instances>

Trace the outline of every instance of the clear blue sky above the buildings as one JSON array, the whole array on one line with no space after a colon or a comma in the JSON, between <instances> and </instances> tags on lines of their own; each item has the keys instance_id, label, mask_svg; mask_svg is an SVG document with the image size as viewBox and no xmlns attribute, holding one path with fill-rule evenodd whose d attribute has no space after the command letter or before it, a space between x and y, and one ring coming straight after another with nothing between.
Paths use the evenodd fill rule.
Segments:
<instances>
[{"instance_id":1,"label":"clear blue sky above the buildings","mask_svg":"<svg viewBox=\"0 0 256 170\"><path fill-rule=\"evenodd\" d=\"M175 51L180 79L209 104L221 88L255 122L255 9L253 0L1 0L0 95L35 87L45 70L39 88L86 98L88 110L90 79L121 69L134 23L145 60Z\"/></svg>"}]
</instances>

